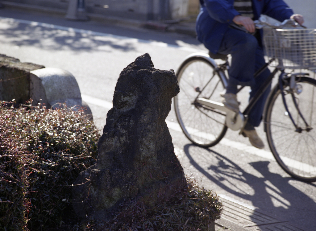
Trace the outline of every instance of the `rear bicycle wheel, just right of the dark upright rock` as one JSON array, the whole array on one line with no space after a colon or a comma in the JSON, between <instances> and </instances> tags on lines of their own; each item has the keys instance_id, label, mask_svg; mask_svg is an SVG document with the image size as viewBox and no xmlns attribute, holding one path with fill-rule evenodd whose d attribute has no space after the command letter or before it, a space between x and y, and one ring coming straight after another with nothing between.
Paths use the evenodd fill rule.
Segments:
<instances>
[{"instance_id":1,"label":"rear bicycle wheel, just right of the dark upright rock","mask_svg":"<svg viewBox=\"0 0 316 231\"><path fill-rule=\"evenodd\" d=\"M217 144L227 131L226 115L197 104L197 97L220 102L225 89L222 78L214 65L205 58L185 60L178 72L180 92L174 97L178 122L185 136L200 147Z\"/></svg>"}]
</instances>

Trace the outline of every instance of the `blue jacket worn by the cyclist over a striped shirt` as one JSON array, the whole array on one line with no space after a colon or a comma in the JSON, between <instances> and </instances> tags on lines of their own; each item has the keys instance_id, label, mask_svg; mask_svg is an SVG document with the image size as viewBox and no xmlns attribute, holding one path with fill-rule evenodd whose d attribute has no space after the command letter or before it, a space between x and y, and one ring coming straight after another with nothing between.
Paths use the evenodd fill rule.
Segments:
<instances>
[{"instance_id":1,"label":"blue jacket worn by the cyclist over a striped shirt","mask_svg":"<svg viewBox=\"0 0 316 231\"><path fill-rule=\"evenodd\" d=\"M201 10L197 16L197 39L213 53L217 53L224 33L236 15L234 0L200 0ZM292 9L283 0L252 0L254 20L261 14L278 21L289 19ZM262 36L262 30L260 30Z\"/></svg>"}]
</instances>

